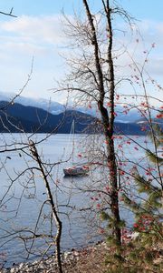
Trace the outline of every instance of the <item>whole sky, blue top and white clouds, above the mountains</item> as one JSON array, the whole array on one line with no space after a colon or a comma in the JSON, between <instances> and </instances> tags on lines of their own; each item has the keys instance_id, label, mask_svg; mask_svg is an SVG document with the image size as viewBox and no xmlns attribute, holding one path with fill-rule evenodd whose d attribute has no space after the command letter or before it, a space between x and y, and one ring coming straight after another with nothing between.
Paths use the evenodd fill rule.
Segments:
<instances>
[{"instance_id":1,"label":"whole sky, blue top and white clouds, above the mountains","mask_svg":"<svg viewBox=\"0 0 163 273\"><path fill-rule=\"evenodd\" d=\"M100 0L90 0L92 8ZM138 19L144 46L156 43L149 72L163 85L163 1L119 0L129 14ZM31 71L33 74L24 89L24 96L49 98L58 102L64 96L50 91L64 77L67 66L62 58L66 53L66 38L62 32L62 9L65 15L82 9L82 0L0 0L0 10L14 7L17 18L0 15L0 92L18 93ZM161 95L160 95L161 96Z\"/></svg>"}]
</instances>

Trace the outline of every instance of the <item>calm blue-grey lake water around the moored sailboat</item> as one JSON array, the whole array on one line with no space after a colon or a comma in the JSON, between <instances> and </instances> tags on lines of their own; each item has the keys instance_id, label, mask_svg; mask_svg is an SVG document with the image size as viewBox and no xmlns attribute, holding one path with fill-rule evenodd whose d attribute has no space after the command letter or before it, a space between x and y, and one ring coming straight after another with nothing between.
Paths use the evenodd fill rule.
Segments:
<instances>
[{"instance_id":1,"label":"calm blue-grey lake water around the moored sailboat","mask_svg":"<svg viewBox=\"0 0 163 273\"><path fill-rule=\"evenodd\" d=\"M38 141L43 136L45 135L40 134L34 136L34 139L36 137ZM71 165L72 160L80 163L90 160L87 152L91 149L93 142L89 137L91 138L92 136L75 136L72 139L68 135L56 135L49 137L37 146L40 155L43 157L43 162L46 161L53 166L56 162L68 160L68 162L57 164L53 167L50 182L53 197L59 207L60 217L62 218L62 250L80 248L101 238L101 236L96 235L100 219L95 218L93 213L90 193L90 188L96 188L98 187L98 183L101 183L101 170L93 168L90 176L73 178L63 177L62 172L62 168ZM96 143L98 143L99 138L101 136L96 136ZM140 145L145 146L144 137L141 136L137 139L135 136L134 139L135 141L139 141ZM1 150L4 149L5 142L8 144L14 140L15 142L25 142L25 137L18 134L14 134L13 136L9 134L2 135ZM89 141L90 145L86 147L86 142ZM117 149L119 151L121 142L122 140L117 140ZM136 149L136 146L135 143L124 145L120 157L128 156L131 160L134 159L141 162L140 160L144 155L144 151L141 148L139 150ZM105 147L102 145L101 150L104 149ZM98 150L97 157L99 157ZM49 205L46 204L43 206L46 194L42 177L35 170L33 173L31 171L22 173L27 167L36 167L32 158L24 156L24 153L21 151L8 152L7 154L1 153L0 162L1 199L4 197L7 188L9 188L0 207L0 258L7 260L6 265L10 266L12 263L22 262L25 258L28 258L20 236L32 236L30 230L35 231L37 234L50 234L53 229L54 234L55 227L51 227L50 225L51 221L49 219L51 215ZM32 182L33 175L34 183ZM20 177L14 181L18 176ZM82 189L84 189L84 192ZM41 207L43 207L43 210L39 218ZM131 214L124 210L121 213L124 218L129 219L130 224L132 222ZM102 223L100 224L102 225ZM30 249L30 244L27 244L27 248ZM40 254L40 249L43 254L46 248L46 239L37 240L33 245L32 254L29 258L37 258ZM53 248L50 248L50 252L53 253Z\"/></svg>"}]
</instances>

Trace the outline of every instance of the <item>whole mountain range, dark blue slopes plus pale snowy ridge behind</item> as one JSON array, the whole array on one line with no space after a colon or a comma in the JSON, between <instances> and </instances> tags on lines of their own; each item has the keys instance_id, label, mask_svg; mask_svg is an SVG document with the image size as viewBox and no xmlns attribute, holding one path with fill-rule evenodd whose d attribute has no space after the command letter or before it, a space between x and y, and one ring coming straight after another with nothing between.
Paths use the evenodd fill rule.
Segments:
<instances>
[{"instance_id":1,"label":"whole mountain range, dark blue slopes plus pale snowy ridge behind","mask_svg":"<svg viewBox=\"0 0 163 273\"><path fill-rule=\"evenodd\" d=\"M0 93L0 132L31 133L70 133L72 122L75 122L74 133L97 133L101 131L99 119L94 109L72 106L66 108L57 102L45 99L18 96L11 102L14 95ZM129 116L129 115L127 115ZM125 135L144 135L142 124L137 123L138 115L130 113L129 119L119 116L115 121L115 132ZM123 121L123 122L121 122ZM96 124L96 126L94 126ZM96 129L96 130L95 130Z\"/></svg>"}]
</instances>

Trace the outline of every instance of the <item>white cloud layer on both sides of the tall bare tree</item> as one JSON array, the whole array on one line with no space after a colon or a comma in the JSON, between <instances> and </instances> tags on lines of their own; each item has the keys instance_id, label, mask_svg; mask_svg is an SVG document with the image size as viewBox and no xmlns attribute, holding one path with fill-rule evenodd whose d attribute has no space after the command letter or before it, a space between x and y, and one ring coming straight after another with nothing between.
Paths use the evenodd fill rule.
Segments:
<instances>
[{"instance_id":1,"label":"white cloud layer on both sides of the tall bare tree","mask_svg":"<svg viewBox=\"0 0 163 273\"><path fill-rule=\"evenodd\" d=\"M32 56L34 56L34 76L30 86L27 87L31 94L44 95L45 90L53 87L53 76L56 79L62 77L63 70L61 58L58 56L60 45L65 45L67 40L62 32L62 20L60 15L51 16L26 16L22 15L14 20L0 22L0 89L14 91L24 83L24 76L29 73ZM123 26L121 25L123 28ZM139 30L143 37L144 49L148 49L152 43L156 43L156 49L151 53L149 60L149 72L160 77L162 74L162 48L163 22L143 21L139 23ZM119 38L119 37L118 37ZM132 41L127 35L120 36L120 44L128 45L133 52L135 37ZM140 40L140 39L139 39ZM136 59L142 61L143 46L137 45ZM147 48L146 48L147 47ZM159 49L160 48L160 49ZM62 47L62 53L69 54L69 49ZM126 56L121 56L122 67L128 65ZM122 72L128 74L128 69L122 68ZM121 73L120 71L120 73ZM120 74L121 75L121 74ZM8 78L10 81L8 82ZM31 95L30 94L30 95ZM33 95L34 96L34 95ZM61 99L61 97L60 97Z\"/></svg>"}]
</instances>

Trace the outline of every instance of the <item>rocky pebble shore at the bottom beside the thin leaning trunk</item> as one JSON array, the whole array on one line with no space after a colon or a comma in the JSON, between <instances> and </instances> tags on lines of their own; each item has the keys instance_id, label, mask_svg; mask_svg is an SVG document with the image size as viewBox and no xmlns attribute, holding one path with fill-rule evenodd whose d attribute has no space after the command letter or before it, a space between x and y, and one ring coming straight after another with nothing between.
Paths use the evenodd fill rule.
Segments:
<instances>
[{"instance_id":1,"label":"rocky pebble shore at the bottom beside the thin leaning trunk","mask_svg":"<svg viewBox=\"0 0 163 273\"><path fill-rule=\"evenodd\" d=\"M107 246L104 242L97 243L94 246L82 248L82 250L72 249L62 253L62 269L64 273L74 272L101 272L101 262L104 258L104 252ZM89 271L89 267L93 268ZM75 268L78 268L76 271ZM85 271L84 271L85 270ZM57 265L54 257L34 261L32 263L21 263L13 268L4 268L1 273L57 273Z\"/></svg>"}]
</instances>

